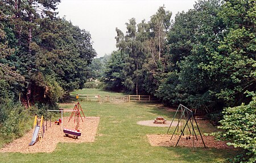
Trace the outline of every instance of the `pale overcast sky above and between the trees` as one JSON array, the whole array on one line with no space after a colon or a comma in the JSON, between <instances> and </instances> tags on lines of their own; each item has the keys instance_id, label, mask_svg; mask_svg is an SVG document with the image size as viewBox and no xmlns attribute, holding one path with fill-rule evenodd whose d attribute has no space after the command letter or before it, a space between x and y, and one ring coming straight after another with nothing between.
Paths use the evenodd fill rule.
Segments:
<instances>
[{"instance_id":1,"label":"pale overcast sky above and between the trees","mask_svg":"<svg viewBox=\"0 0 256 163\"><path fill-rule=\"evenodd\" d=\"M93 48L98 56L110 54L115 48L115 27L126 32L125 23L135 18L148 22L159 6L172 12L172 19L178 11L193 8L196 0L62 0L58 7L59 16L71 20L92 35Z\"/></svg>"}]
</instances>

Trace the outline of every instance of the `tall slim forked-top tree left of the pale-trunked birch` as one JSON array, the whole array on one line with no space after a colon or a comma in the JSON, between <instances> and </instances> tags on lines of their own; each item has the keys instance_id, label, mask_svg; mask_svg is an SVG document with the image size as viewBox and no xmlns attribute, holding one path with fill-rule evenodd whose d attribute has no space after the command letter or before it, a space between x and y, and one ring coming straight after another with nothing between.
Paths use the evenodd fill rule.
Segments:
<instances>
[{"instance_id":1,"label":"tall slim forked-top tree left of the pale-trunked birch","mask_svg":"<svg viewBox=\"0 0 256 163\"><path fill-rule=\"evenodd\" d=\"M142 22L144 23L144 22ZM141 83L141 70L145 59L143 53L143 44L138 40L137 25L135 19L129 20L126 23L126 35L124 36L122 31L116 29L117 48L121 53L126 54L125 65L123 66L124 81L123 85L129 92L139 93L139 85Z\"/></svg>"}]
</instances>

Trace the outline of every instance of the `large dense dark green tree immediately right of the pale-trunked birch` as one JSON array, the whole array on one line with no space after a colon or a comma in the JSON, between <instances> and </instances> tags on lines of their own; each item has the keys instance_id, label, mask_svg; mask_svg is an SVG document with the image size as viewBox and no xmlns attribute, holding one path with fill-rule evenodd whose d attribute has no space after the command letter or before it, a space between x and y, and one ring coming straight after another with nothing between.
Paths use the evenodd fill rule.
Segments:
<instances>
[{"instance_id":1,"label":"large dense dark green tree immediately right of the pale-trunked birch","mask_svg":"<svg viewBox=\"0 0 256 163\"><path fill-rule=\"evenodd\" d=\"M210 93L214 89L214 80L201 67L208 65L209 55L216 52L222 39L223 25L217 17L219 10L218 1L199 1L193 10L176 15L168 35L168 70L171 73L167 78L174 79L164 80L157 91L158 97L171 99L173 104L183 102L196 109L214 108L217 106L215 102L220 102ZM167 93L163 90L166 87L174 89Z\"/></svg>"}]
</instances>

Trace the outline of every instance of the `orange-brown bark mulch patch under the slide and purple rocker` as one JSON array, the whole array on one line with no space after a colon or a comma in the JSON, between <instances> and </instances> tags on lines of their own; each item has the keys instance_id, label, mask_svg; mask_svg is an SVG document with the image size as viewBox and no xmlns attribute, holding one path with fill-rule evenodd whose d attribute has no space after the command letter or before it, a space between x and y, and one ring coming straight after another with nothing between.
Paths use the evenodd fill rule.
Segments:
<instances>
[{"instance_id":1,"label":"orange-brown bark mulch patch under the slide and purple rocker","mask_svg":"<svg viewBox=\"0 0 256 163\"><path fill-rule=\"evenodd\" d=\"M69 117L63 117L63 128L75 130L76 123L74 121L68 122ZM72 119L73 120L73 119ZM75 139L73 136L65 136L61 130L61 125L51 123L44 133L42 141L37 141L34 145L28 146L32 139L32 130L25 134L22 138L14 140L12 143L5 145L0 149L0 152L20 152L20 153L38 153L38 152L53 152L57 143L84 143L93 142L100 122L100 117L86 117L83 118L84 122L80 119L81 136ZM44 124L45 125L45 124Z\"/></svg>"}]
</instances>

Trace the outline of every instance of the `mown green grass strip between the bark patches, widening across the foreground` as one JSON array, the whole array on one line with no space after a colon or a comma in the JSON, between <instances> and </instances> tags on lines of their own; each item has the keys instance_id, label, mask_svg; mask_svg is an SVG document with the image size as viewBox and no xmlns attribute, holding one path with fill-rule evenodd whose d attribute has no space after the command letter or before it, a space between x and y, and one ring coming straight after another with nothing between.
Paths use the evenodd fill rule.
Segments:
<instances>
[{"instance_id":1,"label":"mown green grass strip between the bark patches, widening across the foreground","mask_svg":"<svg viewBox=\"0 0 256 163\"><path fill-rule=\"evenodd\" d=\"M173 116L173 112L159 109L155 104L80 104L86 116L100 117L96 141L59 143L53 153L0 153L0 162L223 162L232 157L232 151L219 149L151 147L146 134L165 134L167 128L141 126L137 121L158 115L170 121ZM73 108L73 104L64 107ZM63 135L52 139L58 136Z\"/></svg>"}]
</instances>

